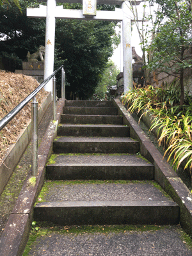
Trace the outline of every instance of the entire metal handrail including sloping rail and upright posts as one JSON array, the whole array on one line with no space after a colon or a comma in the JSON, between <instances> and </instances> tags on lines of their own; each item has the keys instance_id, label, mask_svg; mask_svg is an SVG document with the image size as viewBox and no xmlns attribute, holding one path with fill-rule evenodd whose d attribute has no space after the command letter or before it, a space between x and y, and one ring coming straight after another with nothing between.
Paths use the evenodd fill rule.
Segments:
<instances>
[{"instance_id":1,"label":"entire metal handrail including sloping rail and upright posts","mask_svg":"<svg viewBox=\"0 0 192 256\"><path fill-rule=\"evenodd\" d=\"M22 102L20 102L10 113L4 116L3 119L0 120L0 131L3 127L6 126L18 113L21 109L28 104L28 102L33 99L31 102L31 129L32 129L32 138L31 138L31 149L32 149L32 175L36 175L38 170L38 141L37 141L37 126L38 126L38 103L36 102L35 96L42 88L44 88L45 84L47 84L52 78L52 92L53 92L53 119L56 120L56 78L55 75L58 71L61 70L61 97L65 97L65 70L63 65L60 68L55 70L51 76L47 77L33 92L31 92L28 97L26 97Z\"/></svg>"}]
</instances>

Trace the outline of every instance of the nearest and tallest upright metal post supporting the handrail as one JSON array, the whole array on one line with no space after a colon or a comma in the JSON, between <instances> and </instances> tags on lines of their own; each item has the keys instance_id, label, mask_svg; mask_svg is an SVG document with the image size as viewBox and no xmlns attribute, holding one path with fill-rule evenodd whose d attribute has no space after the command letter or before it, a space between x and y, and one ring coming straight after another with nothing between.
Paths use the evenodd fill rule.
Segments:
<instances>
[{"instance_id":1,"label":"nearest and tallest upright metal post supporting the handrail","mask_svg":"<svg viewBox=\"0 0 192 256\"><path fill-rule=\"evenodd\" d=\"M38 137L37 137L37 126L38 126L38 102L36 98L33 97L33 102L31 102L31 124L32 124L32 139L31 139L31 149L32 149L32 175L35 176L38 171Z\"/></svg>"}]
</instances>

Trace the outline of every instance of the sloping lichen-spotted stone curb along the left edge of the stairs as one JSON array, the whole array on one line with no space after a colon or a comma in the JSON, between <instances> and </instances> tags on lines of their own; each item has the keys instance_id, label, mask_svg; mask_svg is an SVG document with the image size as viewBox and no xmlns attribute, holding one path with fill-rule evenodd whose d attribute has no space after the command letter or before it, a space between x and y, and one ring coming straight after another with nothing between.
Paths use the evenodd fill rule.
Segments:
<instances>
[{"instance_id":1,"label":"sloping lichen-spotted stone curb along the left edge of the stairs","mask_svg":"<svg viewBox=\"0 0 192 256\"><path fill-rule=\"evenodd\" d=\"M31 223L33 220L33 206L38 193L42 189L45 177L45 165L52 153L52 141L56 138L61 113L65 106L65 99L57 104L56 121L51 121L44 134L44 140L38 148L38 174L35 186L29 186L31 170L17 198L15 207L6 223L0 239L0 255L20 256L28 241Z\"/></svg>"}]
</instances>

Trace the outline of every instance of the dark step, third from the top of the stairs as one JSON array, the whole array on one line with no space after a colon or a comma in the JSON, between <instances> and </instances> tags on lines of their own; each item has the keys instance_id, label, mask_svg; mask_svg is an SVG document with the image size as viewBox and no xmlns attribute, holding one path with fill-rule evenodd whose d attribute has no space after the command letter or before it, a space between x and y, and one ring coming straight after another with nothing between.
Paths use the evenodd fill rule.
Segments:
<instances>
[{"instance_id":1,"label":"dark step, third from the top of the stairs","mask_svg":"<svg viewBox=\"0 0 192 256\"><path fill-rule=\"evenodd\" d=\"M61 124L123 124L122 116L61 115Z\"/></svg>"}]
</instances>

